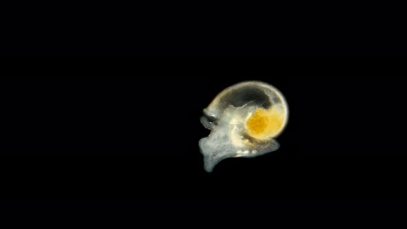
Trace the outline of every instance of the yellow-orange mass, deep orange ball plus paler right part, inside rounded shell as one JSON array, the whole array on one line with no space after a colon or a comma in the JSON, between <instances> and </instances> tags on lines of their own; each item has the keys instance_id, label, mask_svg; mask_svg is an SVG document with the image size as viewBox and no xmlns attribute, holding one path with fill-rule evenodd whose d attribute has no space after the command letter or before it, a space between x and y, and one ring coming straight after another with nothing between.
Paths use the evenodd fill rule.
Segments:
<instances>
[{"instance_id":1,"label":"yellow-orange mass, deep orange ball plus paler right part, inside rounded shell","mask_svg":"<svg viewBox=\"0 0 407 229\"><path fill-rule=\"evenodd\" d=\"M256 139L268 139L277 135L284 124L284 112L281 109L258 108L246 121L248 135Z\"/></svg>"}]
</instances>

